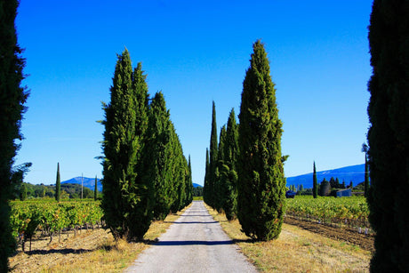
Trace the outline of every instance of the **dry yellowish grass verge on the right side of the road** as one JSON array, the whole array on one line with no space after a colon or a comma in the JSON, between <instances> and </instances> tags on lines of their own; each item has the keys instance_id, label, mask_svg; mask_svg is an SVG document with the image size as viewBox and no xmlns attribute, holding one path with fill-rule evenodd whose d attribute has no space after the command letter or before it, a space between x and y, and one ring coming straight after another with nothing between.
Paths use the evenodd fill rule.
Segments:
<instances>
[{"instance_id":1,"label":"dry yellowish grass verge on the right side of the road","mask_svg":"<svg viewBox=\"0 0 409 273\"><path fill-rule=\"evenodd\" d=\"M372 253L320 236L296 226L283 224L277 240L253 242L241 231L240 223L228 221L205 205L215 221L257 269L266 272L368 272Z\"/></svg>"}]
</instances>

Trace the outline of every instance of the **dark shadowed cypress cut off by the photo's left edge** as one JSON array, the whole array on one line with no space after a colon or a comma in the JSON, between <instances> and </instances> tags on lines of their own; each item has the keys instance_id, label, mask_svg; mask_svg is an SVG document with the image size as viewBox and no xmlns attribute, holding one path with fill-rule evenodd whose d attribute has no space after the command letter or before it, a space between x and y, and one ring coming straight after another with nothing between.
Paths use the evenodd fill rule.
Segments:
<instances>
[{"instance_id":1,"label":"dark shadowed cypress cut off by the photo's left edge","mask_svg":"<svg viewBox=\"0 0 409 273\"><path fill-rule=\"evenodd\" d=\"M23 104L28 91L21 87L24 79L22 70L25 60L17 43L14 20L19 2L0 0L0 271L8 269L7 257L15 249L10 227L10 205L12 198L12 165L18 143L22 140L20 124L25 112Z\"/></svg>"}]
</instances>

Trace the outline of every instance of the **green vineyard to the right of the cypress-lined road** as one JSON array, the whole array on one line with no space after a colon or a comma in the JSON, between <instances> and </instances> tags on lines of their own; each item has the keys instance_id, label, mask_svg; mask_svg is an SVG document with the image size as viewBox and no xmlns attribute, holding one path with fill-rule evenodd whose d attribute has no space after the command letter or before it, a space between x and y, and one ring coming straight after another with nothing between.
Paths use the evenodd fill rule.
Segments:
<instances>
[{"instance_id":1,"label":"green vineyard to the right of the cypress-lined road","mask_svg":"<svg viewBox=\"0 0 409 273\"><path fill-rule=\"evenodd\" d=\"M287 199L286 215L299 220L357 229L371 233L365 197L295 197Z\"/></svg>"}]
</instances>

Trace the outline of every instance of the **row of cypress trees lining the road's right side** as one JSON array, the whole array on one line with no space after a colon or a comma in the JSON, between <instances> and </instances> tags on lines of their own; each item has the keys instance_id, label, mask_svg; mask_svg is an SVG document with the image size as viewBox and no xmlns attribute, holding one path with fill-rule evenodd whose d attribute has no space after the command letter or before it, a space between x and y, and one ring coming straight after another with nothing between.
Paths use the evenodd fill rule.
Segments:
<instances>
[{"instance_id":1,"label":"row of cypress trees lining the road's right side","mask_svg":"<svg viewBox=\"0 0 409 273\"><path fill-rule=\"evenodd\" d=\"M243 83L239 124L234 110L221 128L217 145L213 102L210 153L206 151L204 198L229 220L237 215L245 234L258 240L277 238L285 213L282 122L269 59L260 40L253 44Z\"/></svg>"}]
</instances>

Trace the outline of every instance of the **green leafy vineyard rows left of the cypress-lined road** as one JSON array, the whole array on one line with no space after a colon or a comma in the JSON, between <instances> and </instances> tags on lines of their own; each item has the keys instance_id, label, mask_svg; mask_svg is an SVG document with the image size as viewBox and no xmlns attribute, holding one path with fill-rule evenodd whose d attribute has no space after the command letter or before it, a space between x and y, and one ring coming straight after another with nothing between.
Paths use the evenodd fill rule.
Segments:
<instances>
[{"instance_id":1,"label":"green leafy vineyard rows left of the cypress-lined road","mask_svg":"<svg viewBox=\"0 0 409 273\"><path fill-rule=\"evenodd\" d=\"M102 210L98 201L14 201L12 202L12 234L24 245L37 231L50 237L50 242L61 231L94 227L101 223ZM31 247L30 247L31 248Z\"/></svg>"}]
</instances>

